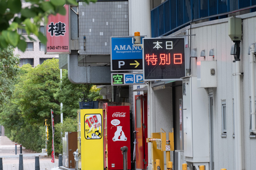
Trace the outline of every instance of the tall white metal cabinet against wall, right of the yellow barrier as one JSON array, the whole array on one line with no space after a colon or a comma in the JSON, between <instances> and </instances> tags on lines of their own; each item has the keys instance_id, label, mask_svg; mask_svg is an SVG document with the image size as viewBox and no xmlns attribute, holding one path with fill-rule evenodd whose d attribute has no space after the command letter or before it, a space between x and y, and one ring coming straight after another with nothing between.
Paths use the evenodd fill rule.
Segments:
<instances>
[{"instance_id":1,"label":"tall white metal cabinet against wall, right of the yellow barrier","mask_svg":"<svg viewBox=\"0 0 256 170\"><path fill-rule=\"evenodd\" d=\"M187 162L209 162L208 90L197 88L197 77L188 76L183 85L184 156Z\"/></svg>"}]
</instances>

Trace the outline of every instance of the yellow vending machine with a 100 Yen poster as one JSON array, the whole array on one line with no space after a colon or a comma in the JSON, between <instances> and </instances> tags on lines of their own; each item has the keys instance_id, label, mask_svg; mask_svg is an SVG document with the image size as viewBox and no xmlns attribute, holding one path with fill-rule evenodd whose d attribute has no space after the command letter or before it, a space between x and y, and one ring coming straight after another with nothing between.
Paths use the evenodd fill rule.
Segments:
<instances>
[{"instance_id":1,"label":"yellow vending machine with a 100 Yen poster","mask_svg":"<svg viewBox=\"0 0 256 170\"><path fill-rule=\"evenodd\" d=\"M103 110L81 109L77 113L78 169L103 170Z\"/></svg>"}]
</instances>

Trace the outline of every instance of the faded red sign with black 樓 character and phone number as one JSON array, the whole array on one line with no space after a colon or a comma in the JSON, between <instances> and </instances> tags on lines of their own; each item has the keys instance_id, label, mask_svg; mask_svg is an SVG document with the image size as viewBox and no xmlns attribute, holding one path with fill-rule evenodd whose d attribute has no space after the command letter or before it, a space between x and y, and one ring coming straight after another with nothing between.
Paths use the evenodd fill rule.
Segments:
<instances>
[{"instance_id":1,"label":"faded red sign with black \u6a13 character and phone number","mask_svg":"<svg viewBox=\"0 0 256 170\"><path fill-rule=\"evenodd\" d=\"M66 15L49 15L46 27L45 54L70 54L69 5L64 5Z\"/></svg>"}]
</instances>

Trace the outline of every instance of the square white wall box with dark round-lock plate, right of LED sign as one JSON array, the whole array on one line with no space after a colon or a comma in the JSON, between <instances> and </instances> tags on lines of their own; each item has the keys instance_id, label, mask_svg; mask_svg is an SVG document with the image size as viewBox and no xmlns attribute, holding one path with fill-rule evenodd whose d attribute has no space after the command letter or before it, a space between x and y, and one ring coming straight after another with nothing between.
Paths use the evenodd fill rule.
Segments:
<instances>
[{"instance_id":1,"label":"square white wall box with dark round-lock plate, right of LED sign","mask_svg":"<svg viewBox=\"0 0 256 170\"><path fill-rule=\"evenodd\" d=\"M197 88L217 87L217 61L197 62Z\"/></svg>"}]
</instances>

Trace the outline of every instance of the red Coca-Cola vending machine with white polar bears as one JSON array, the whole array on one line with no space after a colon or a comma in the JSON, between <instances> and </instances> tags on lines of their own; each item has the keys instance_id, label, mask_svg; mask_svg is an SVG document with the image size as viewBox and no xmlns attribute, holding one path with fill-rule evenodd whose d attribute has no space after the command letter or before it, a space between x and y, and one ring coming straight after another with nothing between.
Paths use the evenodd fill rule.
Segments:
<instances>
[{"instance_id":1,"label":"red Coca-Cola vending machine with white polar bears","mask_svg":"<svg viewBox=\"0 0 256 170\"><path fill-rule=\"evenodd\" d=\"M128 169L131 169L130 107L103 104L104 169L123 169L121 147L127 146Z\"/></svg>"}]
</instances>

